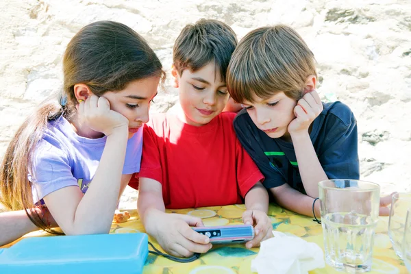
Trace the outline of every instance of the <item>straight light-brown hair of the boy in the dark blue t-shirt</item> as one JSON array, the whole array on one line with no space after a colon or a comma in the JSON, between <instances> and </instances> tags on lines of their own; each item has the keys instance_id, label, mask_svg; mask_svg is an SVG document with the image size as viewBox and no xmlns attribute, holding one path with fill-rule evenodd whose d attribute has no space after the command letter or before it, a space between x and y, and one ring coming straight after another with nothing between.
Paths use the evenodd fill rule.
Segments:
<instances>
[{"instance_id":1,"label":"straight light-brown hair of the boy in the dark blue t-shirt","mask_svg":"<svg viewBox=\"0 0 411 274\"><path fill-rule=\"evenodd\" d=\"M227 88L238 103L284 92L300 99L306 79L316 76L314 54L286 25L260 27L238 43L227 69Z\"/></svg>"}]
</instances>

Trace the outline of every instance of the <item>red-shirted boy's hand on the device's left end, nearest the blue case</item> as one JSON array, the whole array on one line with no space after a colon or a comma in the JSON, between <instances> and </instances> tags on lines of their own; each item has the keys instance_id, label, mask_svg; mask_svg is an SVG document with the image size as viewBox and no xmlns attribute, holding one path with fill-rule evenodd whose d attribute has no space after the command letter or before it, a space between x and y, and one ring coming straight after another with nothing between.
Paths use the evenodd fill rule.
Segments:
<instances>
[{"instance_id":1,"label":"red-shirted boy's hand on the device's left end, nearest the blue case","mask_svg":"<svg viewBox=\"0 0 411 274\"><path fill-rule=\"evenodd\" d=\"M190 257L193 253L206 253L212 247L210 238L190 227L202 227L200 218L164 213L161 220L158 220L160 222L153 237L167 253L177 257Z\"/></svg>"}]
</instances>

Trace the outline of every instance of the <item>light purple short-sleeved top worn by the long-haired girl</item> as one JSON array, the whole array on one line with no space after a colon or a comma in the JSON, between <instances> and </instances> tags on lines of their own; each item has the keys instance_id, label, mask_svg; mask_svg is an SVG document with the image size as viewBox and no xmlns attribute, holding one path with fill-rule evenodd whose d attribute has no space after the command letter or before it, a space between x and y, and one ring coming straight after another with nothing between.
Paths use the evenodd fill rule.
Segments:
<instances>
[{"instance_id":1,"label":"light purple short-sleeved top worn by the long-haired girl","mask_svg":"<svg viewBox=\"0 0 411 274\"><path fill-rule=\"evenodd\" d=\"M62 116L50 122L34 153L34 176L28 177L34 203L66 186L79 186L85 193L99 166L106 138L78 136ZM127 142L123 174L140 171L141 151L142 127Z\"/></svg>"}]
</instances>

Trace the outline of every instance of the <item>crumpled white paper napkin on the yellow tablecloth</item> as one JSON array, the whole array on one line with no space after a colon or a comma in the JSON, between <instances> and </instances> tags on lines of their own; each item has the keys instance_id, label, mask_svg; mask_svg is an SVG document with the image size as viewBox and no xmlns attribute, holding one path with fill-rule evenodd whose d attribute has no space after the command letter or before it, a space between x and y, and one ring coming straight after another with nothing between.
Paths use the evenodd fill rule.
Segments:
<instances>
[{"instance_id":1,"label":"crumpled white paper napkin on the yellow tablecloth","mask_svg":"<svg viewBox=\"0 0 411 274\"><path fill-rule=\"evenodd\" d=\"M282 232L261 242L257 257L251 261L251 271L258 274L306 274L325 266L324 253L318 245Z\"/></svg>"}]
</instances>

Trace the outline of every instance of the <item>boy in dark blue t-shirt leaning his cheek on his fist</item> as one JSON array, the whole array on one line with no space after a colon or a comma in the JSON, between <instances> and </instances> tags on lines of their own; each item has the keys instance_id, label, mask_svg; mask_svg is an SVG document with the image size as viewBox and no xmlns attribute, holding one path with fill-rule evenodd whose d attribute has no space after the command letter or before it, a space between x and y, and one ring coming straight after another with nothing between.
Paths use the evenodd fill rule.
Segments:
<instances>
[{"instance_id":1,"label":"boy in dark blue t-shirt leaning his cheek on his fist","mask_svg":"<svg viewBox=\"0 0 411 274\"><path fill-rule=\"evenodd\" d=\"M356 119L339 101L322 103L315 60L301 36L285 25L261 27L232 55L227 88L242 103L234 120L241 144L262 171L280 206L320 215L318 182L359 179ZM380 214L388 214L390 197Z\"/></svg>"}]
</instances>

